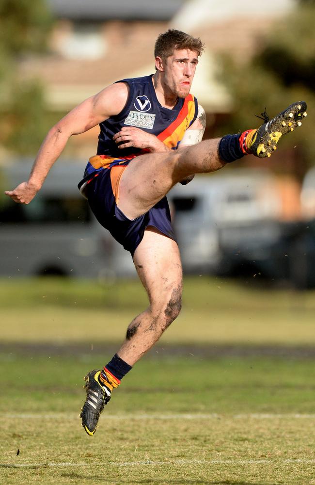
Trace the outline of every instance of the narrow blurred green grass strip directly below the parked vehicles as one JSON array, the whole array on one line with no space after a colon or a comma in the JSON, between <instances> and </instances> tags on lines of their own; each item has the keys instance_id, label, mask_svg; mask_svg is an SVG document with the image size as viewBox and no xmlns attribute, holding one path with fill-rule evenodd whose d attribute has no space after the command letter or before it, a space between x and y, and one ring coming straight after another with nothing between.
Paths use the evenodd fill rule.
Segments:
<instances>
[{"instance_id":1,"label":"narrow blurred green grass strip directly below the parked vehicles","mask_svg":"<svg viewBox=\"0 0 315 485\"><path fill-rule=\"evenodd\" d=\"M314 311L315 290L291 291L266 288L255 281L240 285L234 280L218 277L184 278L183 301L189 309L205 311L224 307L240 310L268 310L286 308L289 311ZM0 307L76 307L127 308L142 310L147 297L138 279L94 280L66 278L0 279Z\"/></svg>"}]
</instances>

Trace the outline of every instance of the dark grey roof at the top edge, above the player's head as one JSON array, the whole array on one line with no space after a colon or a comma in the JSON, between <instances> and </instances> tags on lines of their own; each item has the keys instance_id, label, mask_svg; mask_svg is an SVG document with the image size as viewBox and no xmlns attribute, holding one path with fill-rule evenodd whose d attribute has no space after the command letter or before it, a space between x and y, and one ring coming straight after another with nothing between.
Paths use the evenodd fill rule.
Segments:
<instances>
[{"instance_id":1,"label":"dark grey roof at the top edge, above the player's head","mask_svg":"<svg viewBox=\"0 0 315 485\"><path fill-rule=\"evenodd\" d=\"M184 0L46 0L59 18L78 21L170 20Z\"/></svg>"}]
</instances>

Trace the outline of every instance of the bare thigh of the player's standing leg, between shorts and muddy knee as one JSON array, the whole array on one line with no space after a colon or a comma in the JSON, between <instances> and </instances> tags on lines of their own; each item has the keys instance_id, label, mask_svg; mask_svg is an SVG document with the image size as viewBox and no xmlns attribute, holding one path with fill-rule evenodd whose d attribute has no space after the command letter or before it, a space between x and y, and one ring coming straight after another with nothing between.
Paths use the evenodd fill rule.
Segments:
<instances>
[{"instance_id":1,"label":"bare thigh of the player's standing leg, between shorts and muddy knee","mask_svg":"<svg viewBox=\"0 0 315 485\"><path fill-rule=\"evenodd\" d=\"M144 231L142 242L134 254L134 264L151 307L165 307L170 301L180 304L182 265L177 243L155 227Z\"/></svg>"}]
</instances>

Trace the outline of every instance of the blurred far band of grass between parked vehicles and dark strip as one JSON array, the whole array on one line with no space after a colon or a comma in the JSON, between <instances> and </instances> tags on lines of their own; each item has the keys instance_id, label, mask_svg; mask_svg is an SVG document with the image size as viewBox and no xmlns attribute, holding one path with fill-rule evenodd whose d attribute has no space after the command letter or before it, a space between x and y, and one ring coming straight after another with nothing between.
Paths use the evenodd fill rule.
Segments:
<instances>
[{"instance_id":1,"label":"blurred far band of grass between parked vehicles and dark strip","mask_svg":"<svg viewBox=\"0 0 315 485\"><path fill-rule=\"evenodd\" d=\"M120 342L147 306L137 280L0 280L2 342ZM315 291L269 291L220 279L184 281L183 310L162 344L315 344ZM90 322L93 322L91 328Z\"/></svg>"}]
</instances>

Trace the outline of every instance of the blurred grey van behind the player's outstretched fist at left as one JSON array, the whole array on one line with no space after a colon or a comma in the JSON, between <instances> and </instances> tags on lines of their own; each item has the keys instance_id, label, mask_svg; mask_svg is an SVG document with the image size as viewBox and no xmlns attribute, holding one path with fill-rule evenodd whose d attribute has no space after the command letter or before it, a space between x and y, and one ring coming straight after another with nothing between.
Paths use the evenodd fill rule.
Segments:
<instances>
[{"instance_id":1,"label":"blurred grey van behind the player's outstretched fist at left","mask_svg":"<svg viewBox=\"0 0 315 485\"><path fill-rule=\"evenodd\" d=\"M3 194L27 180L32 161L0 167L0 275L133 275L128 254L98 224L78 182L86 162L59 160L30 204Z\"/></svg>"}]
</instances>

